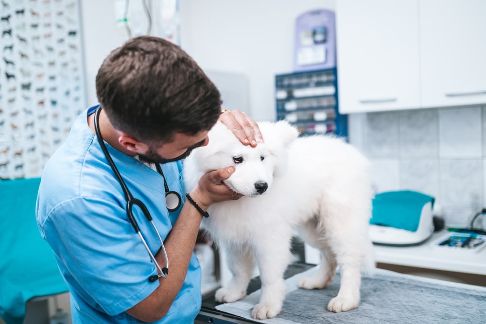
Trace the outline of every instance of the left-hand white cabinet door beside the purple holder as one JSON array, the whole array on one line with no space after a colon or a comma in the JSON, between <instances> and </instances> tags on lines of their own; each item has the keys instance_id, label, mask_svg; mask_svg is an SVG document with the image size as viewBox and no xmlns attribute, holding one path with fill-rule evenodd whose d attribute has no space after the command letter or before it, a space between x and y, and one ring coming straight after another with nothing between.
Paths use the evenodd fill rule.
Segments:
<instances>
[{"instance_id":1,"label":"left-hand white cabinet door beside the purple holder","mask_svg":"<svg viewBox=\"0 0 486 324\"><path fill-rule=\"evenodd\" d=\"M337 0L339 112L420 106L418 0Z\"/></svg>"}]
</instances>

